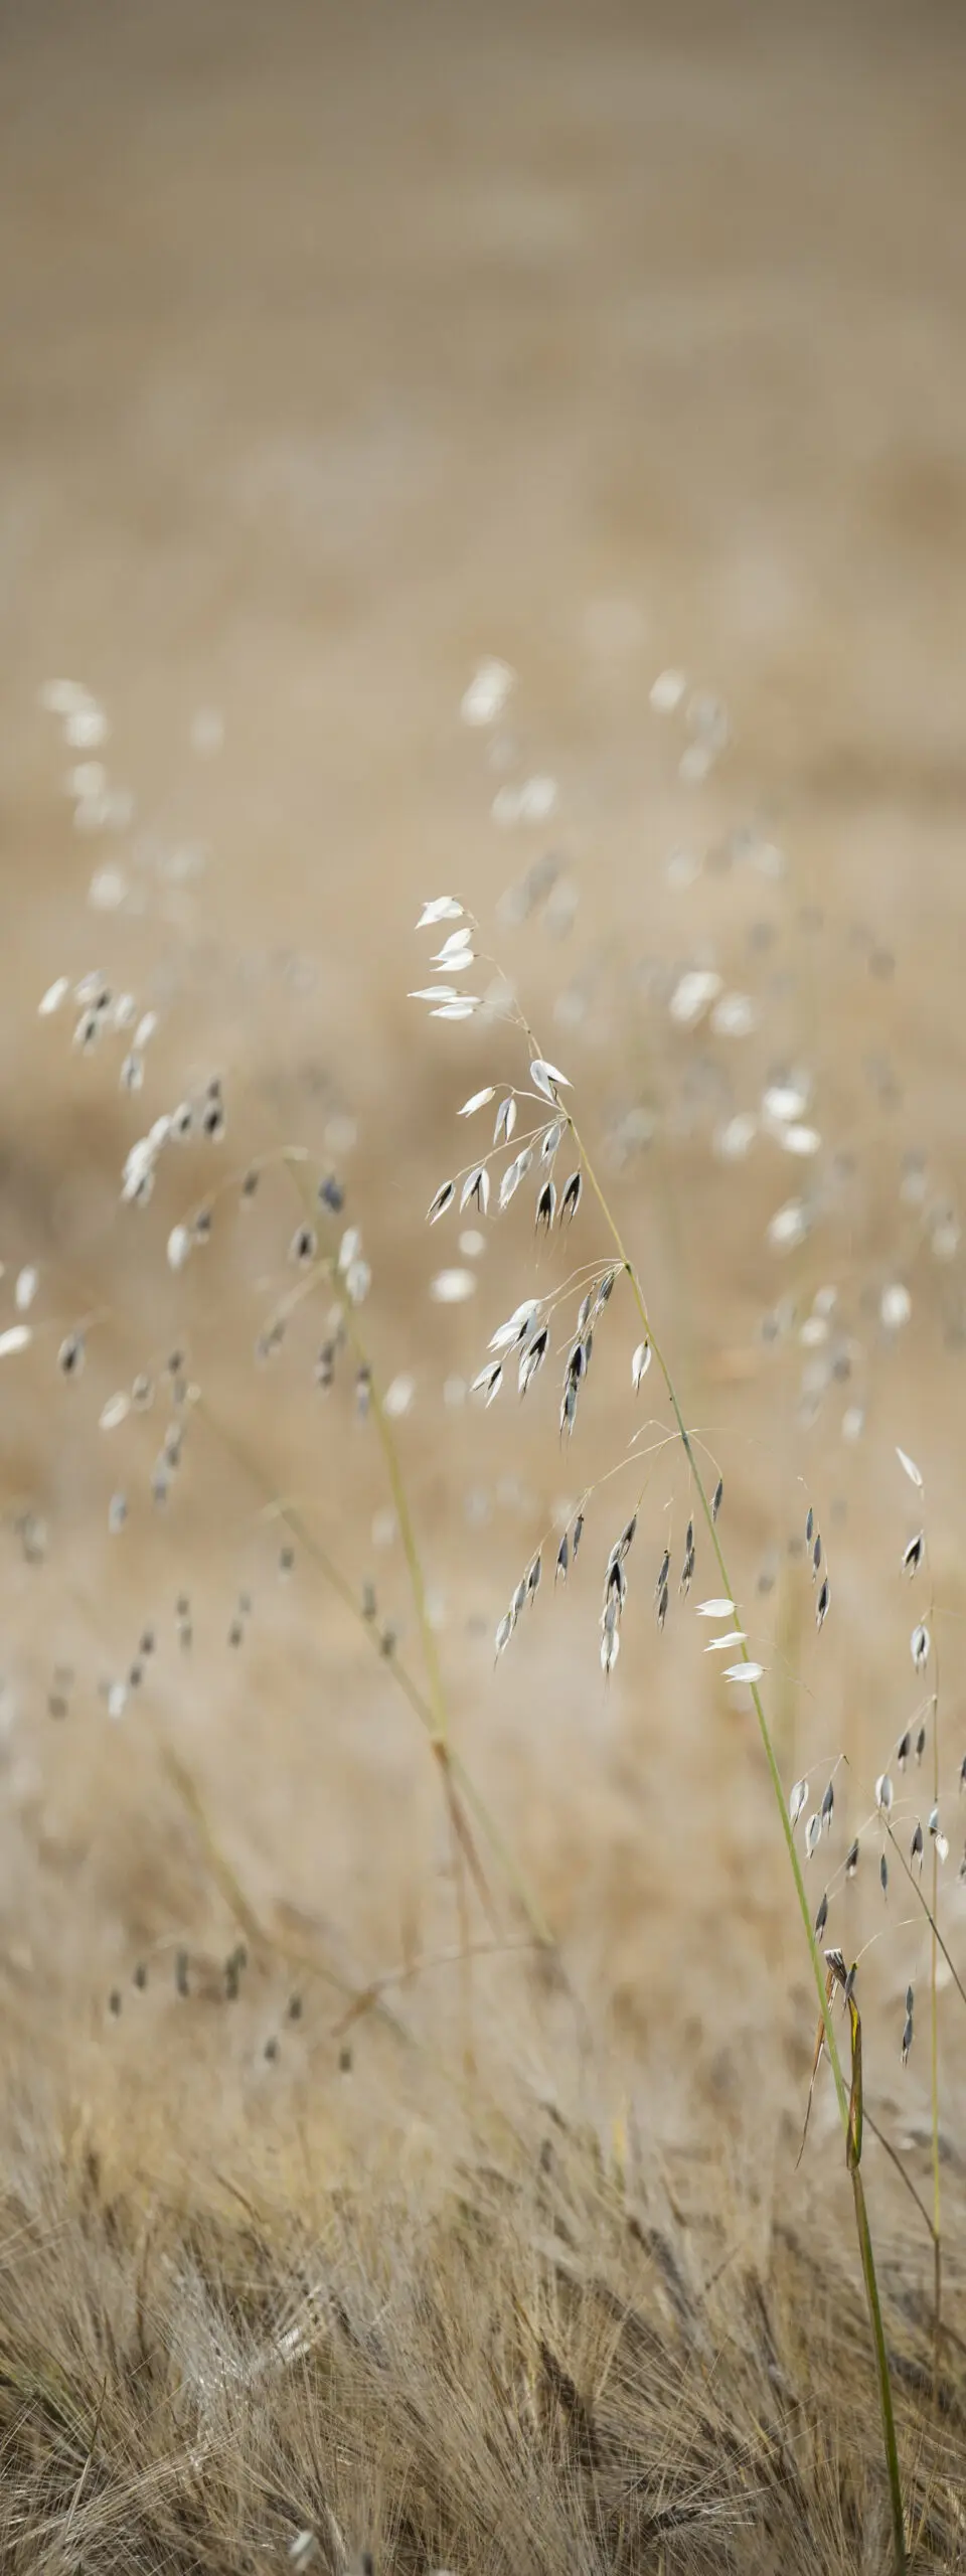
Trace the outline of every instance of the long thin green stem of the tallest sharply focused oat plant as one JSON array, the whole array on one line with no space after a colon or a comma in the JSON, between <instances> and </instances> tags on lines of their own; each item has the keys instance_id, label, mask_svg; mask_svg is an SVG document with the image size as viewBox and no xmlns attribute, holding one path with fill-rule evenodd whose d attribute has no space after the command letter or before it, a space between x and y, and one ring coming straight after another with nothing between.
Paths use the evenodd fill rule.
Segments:
<instances>
[{"instance_id":1,"label":"long thin green stem of the tallest sharply focused oat plant","mask_svg":"<svg viewBox=\"0 0 966 2576\"><path fill-rule=\"evenodd\" d=\"M708 1489L706 1489L706 1481L703 1481L703 1473L701 1473L701 1466L698 1466L698 1458L696 1458L696 1450L693 1450L693 1440L690 1440L685 1417L680 1412L677 1388L675 1388L670 1365L665 1360L665 1352L662 1352L659 1342L654 1340L654 1329L652 1329L649 1311L647 1311L641 1280L636 1275L636 1267L634 1267L631 1255L629 1255L629 1249L623 1244L618 1221L616 1221L616 1216L613 1216L613 1211L608 1206L605 1190L603 1190L603 1185L598 1180L598 1172L595 1172L595 1167L592 1167L592 1162L587 1157L587 1149L582 1144L582 1136L580 1136L577 1123L574 1123L572 1115L569 1115L569 1131L572 1131L577 1154L582 1159L587 1182L590 1182L590 1188L592 1188L592 1193L598 1198L600 1213L605 1218L605 1226L608 1226L613 1249L618 1255L621 1270L626 1273L626 1278L631 1283L634 1303L636 1303L636 1311L641 1316L641 1327L644 1327L644 1334L647 1334L649 1347L654 1352L657 1368L659 1368L659 1373L665 1378L667 1401L670 1401L670 1409L675 1414L677 1435L680 1435L680 1443L683 1443L683 1450L685 1450L685 1458L688 1458L688 1466L690 1466L690 1473L693 1473L693 1481L696 1481L701 1512L703 1512L703 1520L706 1520L706 1528L708 1528L708 1538L711 1538L711 1548L714 1548L714 1558L716 1558L716 1566L719 1566L719 1574L721 1574L721 1587L724 1587L726 1597L734 1600L732 1579L729 1579L729 1569L726 1569L724 1548L721 1548L721 1538L719 1538L719 1525L716 1525L716 1517L714 1517L714 1510L711 1510L711 1499L708 1499ZM744 1664L752 1662L752 1656L747 1651L747 1643L742 1643L739 1659ZM827 1991L827 1973L824 1973L824 1963L822 1963L817 1935L811 1929L811 1914L809 1914L809 1899L806 1899L806 1888L804 1888L804 1875L801 1875L796 1837L793 1837L793 1826L791 1826L791 1819L788 1819L786 1790L783 1790L783 1783L781 1783L775 1747L773 1747L773 1734L770 1734L770 1726L768 1726L765 1703L762 1703L762 1695L757 1690L757 1682L750 1682L750 1695L752 1695L752 1708L755 1708L755 1718L757 1718L757 1731L760 1731L760 1739L762 1739L768 1777L770 1777L775 1806L778 1806L778 1816L781 1816L781 1829L783 1829L783 1837L786 1837L788 1865L791 1865L791 1875L793 1875L793 1888L796 1888L796 1899L799 1899L799 1914L801 1914L801 1924L804 1924L804 1935L806 1935L806 1945L809 1945L809 1958L811 1958L814 1986L817 1986L817 1996L819 1996L824 2048L827 2048L832 2076L835 2076L835 2092L837 2092L837 2105L840 2105L840 2117L842 2117L842 2130L845 2130L845 2143L848 2143L848 2164L850 2164L853 2200L855 2200L855 2233L858 2233L858 2251L860 2251L863 2282L866 2282L868 2324L871 2324L873 2354L876 2354L878 2406L881 2406L881 2429L884 2429L884 2452L886 2452L886 2476L889 2476L889 2499L891 2499L894 2566L896 2566L896 2576L904 2576L904 2571L907 2571L907 2535L904 2535L904 2509L902 2509L896 2421L894 2421L891 2380L889 2380L889 2352L886 2352L886 2336L884 2336L878 2280L876 2280L876 2257L873 2257L873 2241L871 2241L868 2210L866 2210L866 2190L863 2190L863 2179L860 2179L860 2172L858 2172L858 2154L853 2151L853 2143L850 2143L853 2141L850 2092L845 2087L842 2058L840 2058L840 2048L837 2048L837 2038L835 2038L835 2022L832 2022L832 1999L829 1999L829 1991Z\"/></svg>"}]
</instances>

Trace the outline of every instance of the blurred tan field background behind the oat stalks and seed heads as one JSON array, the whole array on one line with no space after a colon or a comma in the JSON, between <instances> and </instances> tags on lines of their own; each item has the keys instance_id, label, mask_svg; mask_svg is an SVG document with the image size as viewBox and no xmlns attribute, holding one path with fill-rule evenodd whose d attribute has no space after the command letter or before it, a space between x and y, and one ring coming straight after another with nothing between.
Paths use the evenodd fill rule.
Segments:
<instances>
[{"instance_id":1,"label":"blurred tan field background behind the oat stalks and seed heads","mask_svg":"<svg viewBox=\"0 0 966 2576\"><path fill-rule=\"evenodd\" d=\"M677 1602L654 1636L665 1504L677 1497L677 1548L688 1512L670 1455L611 1695L598 1574L623 1510L603 1497L582 1587L541 1595L492 1680L492 1628L554 1502L618 1453L636 1332L611 1309L580 1458L559 1461L549 1386L523 1425L507 1396L484 1422L443 1406L443 1378L474 1373L526 1293L531 1252L518 1208L474 1303L428 1303L456 1252L446 1229L422 1234L422 1208L489 1054L404 999L425 979L412 922L443 886L492 920L546 848L567 860L569 938L502 930L502 958L603 1159L629 1110L654 1123L618 1172L621 1216L688 1417L726 1471L724 1535L783 1762L814 1757L822 1795L848 1747L840 1811L858 1824L912 1713L922 1595L896 1577L917 1512L899 1440L927 1473L956 1780L963 1301L925 1218L961 1188L963 23L943 5L33 0L0 15L0 1249L3 1293L39 1260L49 1327L3 1363L10 2012L49 2004L57 1960L98 2032L139 1950L227 1942L162 1744L191 1757L252 1901L299 1909L319 1955L379 1973L453 1940L438 1783L358 1631L304 1564L278 1589L258 1492L211 1437L191 1437L157 1528L155 1437L124 1425L106 1458L95 1427L103 1396L188 1334L265 1492L322 1507L417 1659L399 1551L374 1553L371 1435L312 1388L317 1329L270 1383L252 1368L255 1283L283 1275L291 1195L265 1195L247 1236L229 1213L183 1280L162 1247L206 1188L201 1154L191 1177L165 1170L149 1211L116 1206L139 1123L216 1072L227 1167L294 1136L325 1164L332 1133L345 1141L332 1115L358 1121L345 1177L376 1262L366 1329L384 1376L417 1376L399 1437L459 1741L582 1999L595 2017L616 2007L600 2027L621 2048L647 2035L649 2102L672 2117L683 2058L739 2089L721 2040L801 1968L770 1945L783 1896L760 1757ZM459 721L487 652L518 670L507 773ZM698 793L677 781L680 729L649 714L665 665L732 714ZM39 706L64 672L108 714L98 757L134 799L116 832L77 829L64 796L82 755ZM209 755L204 708L224 719ZM533 770L559 783L554 822L502 832L500 778ZM747 822L781 845L781 878L729 858ZM706 858L690 886L667 881L680 848ZM103 866L124 871L111 914L88 907ZM755 994L755 1038L670 1030L675 974L708 961ZM88 966L162 1012L139 1103L118 1097L106 1051L77 1061L64 1020L36 1023L49 979ZM572 979L577 1028L554 1015ZM819 1162L760 1144L721 1167L721 1118L788 1064L814 1074ZM513 1069L500 1038L495 1072ZM925 1208L899 1200L909 1151L927 1157ZM778 1262L765 1224L801 1172L819 1175L822 1226ZM587 1208L580 1229L574 1257L592 1260ZM878 1324L894 1278L912 1291L899 1337ZM804 1425L796 1321L822 1280L840 1285L853 1376ZM760 1319L778 1296L793 1324L770 1350ZM113 1319L64 1388L59 1332L100 1298ZM850 1401L866 1404L855 1448ZM116 1481L131 1520L108 1543ZM832 1551L822 1641L786 1558L806 1499ZM23 1564L23 1510L49 1530L41 1566ZM770 1558L778 1584L755 1602ZM255 1610L232 1656L240 1584ZM126 1669L144 1620L149 1690L111 1726L98 1680ZM59 1723L54 1662L75 1672ZM956 1922L953 1801L948 1821ZM881 1929L878 1891L868 1922ZM876 1950L889 2081L920 1950L912 1924ZM793 1965L778 1973L778 1955ZM479 1971L500 2014L515 1978ZM453 1994L446 1968L412 2012L435 2027ZM252 2045L276 2012L265 1976ZM327 2069L330 2022L312 1986L289 2053L317 2045ZM129 2009L121 2030L134 2053ZM799 2074L801 2045L799 2022Z\"/></svg>"}]
</instances>

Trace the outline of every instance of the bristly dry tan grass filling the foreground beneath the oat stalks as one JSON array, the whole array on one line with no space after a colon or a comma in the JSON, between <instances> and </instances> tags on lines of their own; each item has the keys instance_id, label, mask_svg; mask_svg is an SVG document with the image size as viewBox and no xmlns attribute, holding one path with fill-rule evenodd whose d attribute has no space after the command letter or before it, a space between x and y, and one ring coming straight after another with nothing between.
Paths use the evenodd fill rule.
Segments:
<instances>
[{"instance_id":1,"label":"bristly dry tan grass filling the foreground beneath the oat stalks","mask_svg":"<svg viewBox=\"0 0 966 2576\"><path fill-rule=\"evenodd\" d=\"M157 2081L165 2084L165 2061ZM201 2071L201 2069L198 2069ZM510 2107L513 2105L513 2107ZM428 2105L430 2110L430 2097ZM526 2105L247 2190L118 2182L98 2117L21 2115L0 2298L10 2576L881 2568L889 2494L837 2221L721 2151L603 2151ZM456 2130L446 2143L446 2130ZM291 2141L289 2141L291 2148ZM240 2159L245 2172L245 2159ZM914 2566L966 2566L966 2352L884 2264Z\"/></svg>"}]
</instances>

